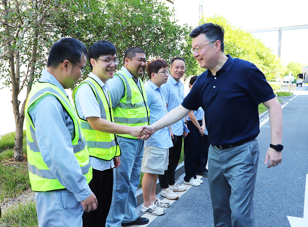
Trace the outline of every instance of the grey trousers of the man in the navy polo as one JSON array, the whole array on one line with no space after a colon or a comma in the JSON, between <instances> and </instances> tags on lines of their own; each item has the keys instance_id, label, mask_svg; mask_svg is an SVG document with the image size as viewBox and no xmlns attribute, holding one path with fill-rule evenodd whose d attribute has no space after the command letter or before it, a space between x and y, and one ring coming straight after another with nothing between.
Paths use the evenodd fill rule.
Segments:
<instances>
[{"instance_id":1,"label":"grey trousers of the man in the navy polo","mask_svg":"<svg viewBox=\"0 0 308 227\"><path fill-rule=\"evenodd\" d=\"M215 227L255 227L258 160L257 139L229 149L209 146L208 181Z\"/></svg>"}]
</instances>

